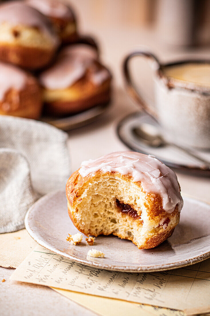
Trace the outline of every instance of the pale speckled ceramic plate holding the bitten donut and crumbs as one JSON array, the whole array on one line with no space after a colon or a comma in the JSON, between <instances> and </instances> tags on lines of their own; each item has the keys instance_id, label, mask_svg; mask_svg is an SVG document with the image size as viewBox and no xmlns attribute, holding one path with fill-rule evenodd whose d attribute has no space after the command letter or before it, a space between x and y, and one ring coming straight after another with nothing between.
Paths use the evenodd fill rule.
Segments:
<instances>
[{"instance_id":1,"label":"pale speckled ceramic plate holding the bitten donut and crumbs","mask_svg":"<svg viewBox=\"0 0 210 316\"><path fill-rule=\"evenodd\" d=\"M116 236L98 236L94 246L85 241L74 246L66 241L78 233L67 213L64 191L39 199L27 212L25 225L31 237L44 248L63 257L117 271L160 271L183 267L210 257L210 205L184 198L180 222L172 236L160 246L139 250L130 240ZM87 258L89 249L105 253L106 258Z\"/></svg>"}]
</instances>

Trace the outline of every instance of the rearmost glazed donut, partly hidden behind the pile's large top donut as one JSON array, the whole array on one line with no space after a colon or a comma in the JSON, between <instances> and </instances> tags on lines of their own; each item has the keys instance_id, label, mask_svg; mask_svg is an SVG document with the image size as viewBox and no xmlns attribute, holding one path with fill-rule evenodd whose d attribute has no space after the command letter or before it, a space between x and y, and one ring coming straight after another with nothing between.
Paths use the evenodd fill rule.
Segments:
<instances>
[{"instance_id":1,"label":"rearmost glazed donut, partly hidden behind the pile's large top donut","mask_svg":"<svg viewBox=\"0 0 210 316\"><path fill-rule=\"evenodd\" d=\"M63 43L78 39L76 17L69 5L57 0L26 0L26 3L50 19Z\"/></svg>"}]
</instances>

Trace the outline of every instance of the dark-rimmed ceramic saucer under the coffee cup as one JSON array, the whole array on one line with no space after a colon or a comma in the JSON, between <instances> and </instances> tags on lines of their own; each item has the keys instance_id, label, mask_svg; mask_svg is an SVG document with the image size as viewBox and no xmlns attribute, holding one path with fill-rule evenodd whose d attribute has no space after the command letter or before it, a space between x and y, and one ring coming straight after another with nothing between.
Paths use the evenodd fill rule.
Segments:
<instances>
[{"instance_id":1,"label":"dark-rimmed ceramic saucer under the coffee cup","mask_svg":"<svg viewBox=\"0 0 210 316\"><path fill-rule=\"evenodd\" d=\"M130 149L143 154L155 155L159 160L163 161L167 166L176 168L179 171L187 173L195 173L202 176L210 177L210 168L204 167L202 163L187 153L174 147L166 145L161 147L147 146L139 137L133 133L133 129L143 124L154 125L156 129L160 126L149 115L142 112L134 112L122 119L117 126L117 133L120 140ZM194 149L194 153L210 162L209 151L199 151Z\"/></svg>"}]
</instances>

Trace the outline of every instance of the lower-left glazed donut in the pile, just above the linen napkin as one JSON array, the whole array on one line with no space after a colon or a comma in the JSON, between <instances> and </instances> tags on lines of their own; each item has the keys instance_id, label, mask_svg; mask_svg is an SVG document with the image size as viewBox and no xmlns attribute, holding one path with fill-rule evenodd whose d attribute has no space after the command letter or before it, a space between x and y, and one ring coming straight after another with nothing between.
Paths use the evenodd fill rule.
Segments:
<instances>
[{"instance_id":1,"label":"lower-left glazed donut in the pile, just above the linen napkin","mask_svg":"<svg viewBox=\"0 0 210 316\"><path fill-rule=\"evenodd\" d=\"M0 62L0 114L38 119L42 110L37 80L14 65Z\"/></svg>"}]
</instances>

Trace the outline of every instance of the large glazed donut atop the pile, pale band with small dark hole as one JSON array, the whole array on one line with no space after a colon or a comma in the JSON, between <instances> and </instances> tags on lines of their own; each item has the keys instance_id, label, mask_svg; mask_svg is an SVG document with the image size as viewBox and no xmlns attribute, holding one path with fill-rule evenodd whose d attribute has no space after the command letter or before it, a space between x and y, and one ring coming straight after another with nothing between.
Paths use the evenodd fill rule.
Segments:
<instances>
[{"instance_id":1,"label":"large glazed donut atop the pile, pale band with small dark hole","mask_svg":"<svg viewBox=\"0 0 210 316\"><path fill-rule=\"evenodd\" d=\"M50 21L20 1L0 6L0 60L26 69L46 66L59 44Z\"/></svg>"}]
</instances>

